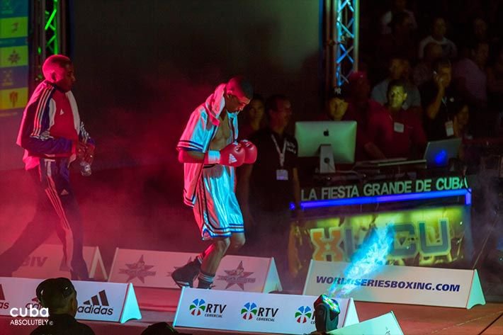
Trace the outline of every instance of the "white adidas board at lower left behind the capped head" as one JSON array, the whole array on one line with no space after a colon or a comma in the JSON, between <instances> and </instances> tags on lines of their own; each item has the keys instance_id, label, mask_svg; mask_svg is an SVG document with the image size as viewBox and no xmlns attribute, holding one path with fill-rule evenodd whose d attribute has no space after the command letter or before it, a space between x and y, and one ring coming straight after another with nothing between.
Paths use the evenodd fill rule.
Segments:
<instances>
[{"instance_id":1,"label":"white adidas board at lower left behind the capped head","mask_svg":"<svg viewBox=\"0 0 503 335\"><path fill-rule=\"evenodd\" d=\"M30 308L40 310L35 290L41 282L32 278L0 277L0 315L24 314L24 309ZM142 318L132 284L80 280L72 283L79 302L76 319L124 323Z\"/></svg>"}]
</instances>

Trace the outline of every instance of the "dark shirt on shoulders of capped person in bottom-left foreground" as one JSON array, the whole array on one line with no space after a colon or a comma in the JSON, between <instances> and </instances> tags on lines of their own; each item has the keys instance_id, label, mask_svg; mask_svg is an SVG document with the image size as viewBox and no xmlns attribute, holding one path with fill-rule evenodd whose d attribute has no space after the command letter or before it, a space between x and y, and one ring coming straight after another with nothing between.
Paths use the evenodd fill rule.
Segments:
<instances>
[{"instance_id":1,"label":"dark shirt on shoulders of capped person in bottom-left foreground","mask_svg":"<svg viewBox=\"0 0 503 335\"><path fill-rule=\"evenodd\" d=\"M87 324L81 324L69 314L52 314L47 324L39 326L31 335L95 335Z\"/></svg>"}]
</instances>

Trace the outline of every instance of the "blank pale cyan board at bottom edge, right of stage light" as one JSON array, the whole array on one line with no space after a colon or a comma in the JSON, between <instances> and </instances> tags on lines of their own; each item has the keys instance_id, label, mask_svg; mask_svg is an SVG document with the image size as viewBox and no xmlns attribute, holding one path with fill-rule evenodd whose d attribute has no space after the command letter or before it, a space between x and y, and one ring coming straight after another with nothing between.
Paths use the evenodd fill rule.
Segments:
<instances>
[{"instance_id":1,"label":"blank pale cyan board at bottom edge, right of stage light","mask_svg":"<svg viewBox=\"0 0 503 335\"><path fill-rule=\"evenodd\" d=\"M397 318L393 312L374 317L359 324L329 331L330 335L354 335L354 334L389 334L403 335L402 328L398 324Z\"/></svg>"}]
</instances>

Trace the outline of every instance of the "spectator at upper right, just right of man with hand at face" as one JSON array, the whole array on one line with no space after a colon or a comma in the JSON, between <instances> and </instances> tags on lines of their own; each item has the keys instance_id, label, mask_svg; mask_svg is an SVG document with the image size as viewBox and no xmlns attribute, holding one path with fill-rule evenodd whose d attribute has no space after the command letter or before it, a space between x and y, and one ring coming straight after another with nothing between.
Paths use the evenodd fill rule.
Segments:
<instances>
[{"instance_id":1,"label":"spectator at upper right, just right of man with hand at face","mask_svg":"<svg viewBox=\"0 0 503 335\"><path fill-rule=\"evenodd\" d=\"M456 88L463 98L476 108L487 106L487 75L485 66L489 56L487 42L470 46L470 57L460 59L453 67Z\"/></svg>"}]
</instances>

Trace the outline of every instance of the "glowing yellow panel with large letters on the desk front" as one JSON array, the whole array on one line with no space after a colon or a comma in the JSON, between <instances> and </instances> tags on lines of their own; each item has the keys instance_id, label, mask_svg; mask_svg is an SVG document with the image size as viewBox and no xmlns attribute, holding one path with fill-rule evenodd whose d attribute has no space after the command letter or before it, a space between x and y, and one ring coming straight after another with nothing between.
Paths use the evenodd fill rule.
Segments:
<instances>
[{"instance_id":1,"label":"glowing yellow panel with large letters on the desk front","mask_svg":"<svg viewBox=\"0 0 503 335\"><path fill-rule=\"evenodd\" d=\"M434 266L470 261L473 254L470 207L454 205L305 219L313 250L300 257L305 263L307 257L350 261L372 229L389 225L394 237L387 259L390 264Z\"/></svg>"}]
</instances>

